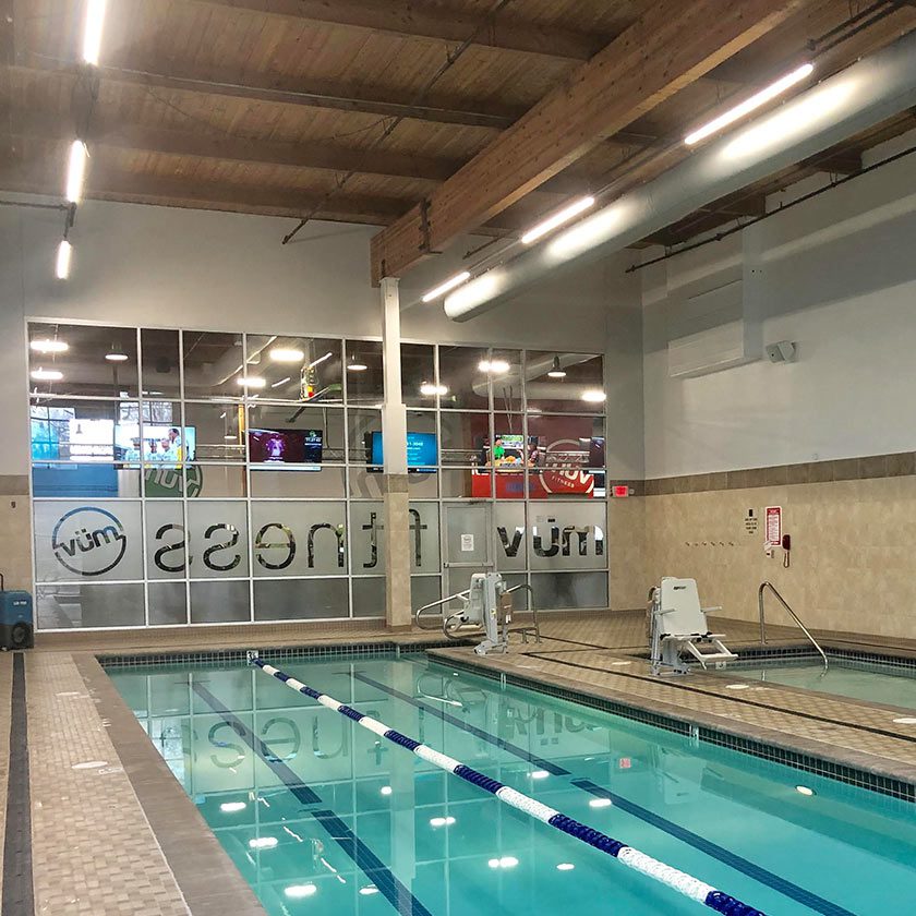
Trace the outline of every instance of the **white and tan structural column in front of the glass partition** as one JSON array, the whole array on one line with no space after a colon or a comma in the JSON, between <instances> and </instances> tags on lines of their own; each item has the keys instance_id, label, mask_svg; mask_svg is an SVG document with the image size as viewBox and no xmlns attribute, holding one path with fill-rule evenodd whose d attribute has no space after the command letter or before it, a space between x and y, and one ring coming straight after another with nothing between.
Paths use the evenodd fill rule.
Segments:
<instances>
[{"instance_id":1,"label":"white and tan structural column in front of the glass partition","mask_svg":"<svg viewBox=\"0 0 916 916\"><path fill-rule=\"evenodd\" d=\"M408 627L410 603L410 528L407 490L407 408L401 401L400 300L398 281L382 280L382 359L385 402L382 409L385 515L385 620Z\"/></svg>"}]
</instances>

